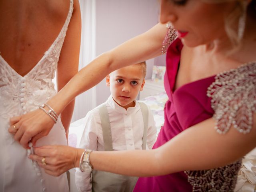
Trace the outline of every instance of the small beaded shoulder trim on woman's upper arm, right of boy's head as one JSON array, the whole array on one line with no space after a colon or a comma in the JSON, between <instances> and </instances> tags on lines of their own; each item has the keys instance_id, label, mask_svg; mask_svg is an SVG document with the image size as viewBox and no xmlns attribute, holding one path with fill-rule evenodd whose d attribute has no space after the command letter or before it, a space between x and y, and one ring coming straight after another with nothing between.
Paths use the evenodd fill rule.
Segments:
<instances>
[{"instance_id":1,"label":"small beaded shoulder trim on woman's upper arm, right of boy's head","mask_svg":"<svg viewBox=\"0 0 256 192\"><path fill-rule=\"evenodd\" d=\"M171 22L166 24L166 28L168 28L167 34L164 37L163 46L161 53L164 55L167 52L168 47L170 44L177 38L176 30L173 28Z\"/></svg>"}]
</instances>

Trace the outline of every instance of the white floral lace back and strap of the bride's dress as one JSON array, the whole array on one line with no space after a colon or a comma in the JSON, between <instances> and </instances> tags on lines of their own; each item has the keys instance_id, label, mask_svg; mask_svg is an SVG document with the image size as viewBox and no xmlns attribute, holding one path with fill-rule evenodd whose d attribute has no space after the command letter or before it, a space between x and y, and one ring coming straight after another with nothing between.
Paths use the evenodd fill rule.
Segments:
<instances>
[{"instance_id":1,"label":"white floral lace back and strap of the bride's dress","mask_svg":"<svg viewBox=\"0 0 256 192\"><path fill-rule=\"evenodd\" d=\"M10 118L35 110L56 94L52 79L72 12L73 0L70 1L68 16L58 37L24 77L14 71L0 56L0 116Z\"/></svg>"}]
</instances>

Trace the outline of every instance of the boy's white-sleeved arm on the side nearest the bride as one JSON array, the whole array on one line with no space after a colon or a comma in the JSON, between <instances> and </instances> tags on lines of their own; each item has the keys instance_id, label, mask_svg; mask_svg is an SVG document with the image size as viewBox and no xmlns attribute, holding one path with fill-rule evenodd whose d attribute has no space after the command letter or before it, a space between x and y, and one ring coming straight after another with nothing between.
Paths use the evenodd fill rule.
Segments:
<instances>
[{"instance_id":1,"label":"boy's white-sleeved arm on the side nearest the bride","mask_svg":"<svg viewBox=\"0 0 256 192\"><path fill-rule=\"evenodd\" d=\"M85 118L85 126L79 148L97 150L98 124L94 119L94 112L90 111ZM76 168L76 187L80 192L91 192L91 174L81 172L80 168Z\"/></svg>"}]
</instances>

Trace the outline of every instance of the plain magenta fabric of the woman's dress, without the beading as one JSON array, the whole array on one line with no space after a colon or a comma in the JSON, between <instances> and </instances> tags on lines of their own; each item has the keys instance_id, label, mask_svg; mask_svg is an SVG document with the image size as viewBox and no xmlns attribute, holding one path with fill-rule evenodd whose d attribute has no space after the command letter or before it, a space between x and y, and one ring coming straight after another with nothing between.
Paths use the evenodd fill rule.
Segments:
<instances>
[{"instance_id":1,"label":"plain magenta fabric of the woman's dress, without the beading","mask_svg":"<svg viewBox=\"0 0 256 192\"><path fill-rule=\"evenodd\" d=\"M169 46L166 54L164 88L169 99L164 108L164 126L153 148L162 146L186 128L211 118L214 114L211 108L211 98L206 96L207 88L214 82L214 76L190 82L174 90L182 47L182 42L177 38ZM134 192L190 191L192 191L192 186L184 172L139 178L134 188Z\"/></svg>"}]
</instances>

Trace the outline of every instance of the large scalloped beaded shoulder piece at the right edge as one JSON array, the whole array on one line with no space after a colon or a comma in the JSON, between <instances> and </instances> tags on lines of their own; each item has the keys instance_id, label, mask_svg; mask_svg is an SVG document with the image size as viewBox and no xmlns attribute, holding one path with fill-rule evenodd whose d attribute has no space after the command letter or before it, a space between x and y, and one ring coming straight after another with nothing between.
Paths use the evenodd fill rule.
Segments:
<instances>
[{"instance_id":1,"label":"large scalloped beaded shoulder piece at the right edge","mask_svg":"<svg viewBox=\"0 0 256 192\"><path fill-rule=\"evenodd\" d=\"M232 125L241 133L249 133L256 111L256 62L218 74L207 96L212 98L218 133L225 134Z\"/></svg>"}]
</instances>

